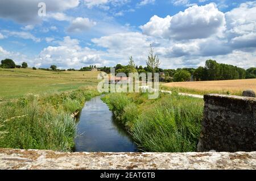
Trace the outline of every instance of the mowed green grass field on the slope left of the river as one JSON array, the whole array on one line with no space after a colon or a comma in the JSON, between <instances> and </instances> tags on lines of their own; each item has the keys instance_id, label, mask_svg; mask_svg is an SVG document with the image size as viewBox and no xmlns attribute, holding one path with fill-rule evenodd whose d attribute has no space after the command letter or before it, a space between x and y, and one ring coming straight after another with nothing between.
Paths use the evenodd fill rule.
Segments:
<instances>
[{"instance_id":1,"label":"mowed green grass field on the slope left of the river","mask_svg":"<svg viewBox=\"0 0 256 181\"><path fill-rule=\"evenodd\" d=\"M0 68L0 100L15 99L29 93L43 94L75 90L81 86L97 86L98 73Z\"/></svg>"}]
</instances>

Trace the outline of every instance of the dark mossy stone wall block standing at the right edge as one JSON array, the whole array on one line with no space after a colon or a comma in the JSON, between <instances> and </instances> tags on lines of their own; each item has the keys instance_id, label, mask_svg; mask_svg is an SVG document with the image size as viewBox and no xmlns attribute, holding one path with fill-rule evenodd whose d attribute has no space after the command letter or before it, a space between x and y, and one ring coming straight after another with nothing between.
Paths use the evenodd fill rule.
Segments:
<instances>
[{"instance_id":1,"label":"dark mossy stone wall block standing at the right edge","mask_svg":"<svg viewBox=\"0 0 256 181\"><path fill-rule=\"evenodd\" d=\"M256 151L256 98L210 94L204 100L197 151Z\"/></svg>"}]
</instances>

